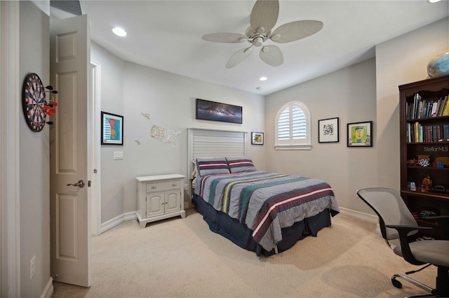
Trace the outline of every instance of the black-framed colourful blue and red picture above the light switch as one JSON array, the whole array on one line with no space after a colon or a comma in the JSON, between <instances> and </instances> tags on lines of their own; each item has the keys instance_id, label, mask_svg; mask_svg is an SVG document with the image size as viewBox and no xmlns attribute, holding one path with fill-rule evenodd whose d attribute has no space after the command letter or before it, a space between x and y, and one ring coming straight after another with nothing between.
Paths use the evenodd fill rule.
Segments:
<instances>
[{"instance_id":1,"label":"black-framed colourful blue and red picture above the light switch","mask_svg":"<svg viewBox=\"0 0 449 298\"><path fill-rule=\"evenodd\" d=\"M101 112L101 144L123 145L123 116Z\"/></svg>"}]
</instances>

